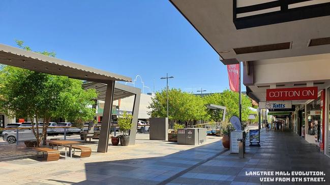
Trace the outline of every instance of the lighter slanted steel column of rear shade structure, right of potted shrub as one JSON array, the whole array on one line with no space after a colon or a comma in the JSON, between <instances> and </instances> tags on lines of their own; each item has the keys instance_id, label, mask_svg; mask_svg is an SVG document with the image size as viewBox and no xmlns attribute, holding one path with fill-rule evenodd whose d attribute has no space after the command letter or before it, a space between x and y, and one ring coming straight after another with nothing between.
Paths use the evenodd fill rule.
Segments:
<instances>
[{"instance_id":1,"label":"lighter slanted steel column of rear shade structure, right of potted shrub","mask_svg":"<svg viewBox=\"0 0 330 185\"><path fill-rule=\"evenodd\" d=\"M130 142L129 145L134 145L135 144L135 139L136 139L136 129L137 129L137 119L139 116L139 105L140 105L140 96L141 92L138 92L135 94L134 97L134 105L133 105L133 118L132 118L132 128L130 131Z\"/></svg>"}]
</instances>

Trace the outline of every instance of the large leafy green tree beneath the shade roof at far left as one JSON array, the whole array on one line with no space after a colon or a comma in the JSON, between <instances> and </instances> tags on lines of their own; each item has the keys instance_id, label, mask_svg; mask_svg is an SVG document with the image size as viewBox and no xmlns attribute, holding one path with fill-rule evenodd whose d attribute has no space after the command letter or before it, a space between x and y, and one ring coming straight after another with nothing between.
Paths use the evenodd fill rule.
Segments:
<instances>
[{"instance_id":1,"label":"large leafy green tree beneath the shade roof at far left","mask_svg":"<svg viewBox=\"0 0 330 185\"><path fill-rule=\"evenodd\" d=\"M23 45L23 41L16 43L20 48L31 51ZM39 53L55 56L54 52ZM95 110L87 105L94 103L92 99L97 93L95 90L84 91L81 83L68 77L5 65L0 69L0 110L12 118L29 118L39 146L42 138L46 141L51 118L93 119ZM39 119L44 123L42 133L39 133Z\"/></svg>"}]
</instances>

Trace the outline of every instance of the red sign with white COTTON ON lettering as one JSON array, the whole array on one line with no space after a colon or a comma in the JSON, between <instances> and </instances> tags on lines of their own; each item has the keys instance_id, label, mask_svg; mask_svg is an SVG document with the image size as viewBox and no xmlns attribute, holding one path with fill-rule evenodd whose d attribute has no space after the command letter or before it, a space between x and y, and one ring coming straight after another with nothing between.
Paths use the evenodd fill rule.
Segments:
<instances>
[{"instance_id":1,"label":"red sign with white COTTON ON lettering","mask_svg":"<svg viewBox=\"0 0 330 185\"><path fill-rule=\"evenodd\" d=\"M317 99L317 87L267 89L266 101Z\"/></svg>"}]
</instances>

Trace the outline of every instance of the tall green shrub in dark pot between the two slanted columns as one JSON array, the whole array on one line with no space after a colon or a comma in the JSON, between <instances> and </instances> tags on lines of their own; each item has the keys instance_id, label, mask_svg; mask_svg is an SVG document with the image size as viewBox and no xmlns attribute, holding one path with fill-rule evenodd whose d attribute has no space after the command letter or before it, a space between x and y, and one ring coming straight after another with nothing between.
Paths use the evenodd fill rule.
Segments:
<instances>
[{"instance_id":1,"label":"tall green shrub in dark pot between the two slanted columns","mask_svg":"<svg viewBox=\"0 0 330 185\"><path fill-rule=\"evenodd\" d=\"M122 146L127 146L130 142L130 136L127 134L132 128L132 118L133 116L131 114L128 114L126 111L121 117L118 118L119 129L124 133L123 135L119 136Z\"/></svg>"}]
</instances>

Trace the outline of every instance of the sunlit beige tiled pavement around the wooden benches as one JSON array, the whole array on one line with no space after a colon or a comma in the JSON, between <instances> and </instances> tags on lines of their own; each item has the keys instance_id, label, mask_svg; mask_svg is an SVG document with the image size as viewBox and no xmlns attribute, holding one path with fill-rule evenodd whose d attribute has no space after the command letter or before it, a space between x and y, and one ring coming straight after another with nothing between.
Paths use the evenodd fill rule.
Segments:
<instances>
[{"instance_id":1,"label":"sunlit beige tiled pavement around the wooden benches","mask_svg":"<svg viewBox=\"0 0 330 185\"><path fill-rule=\"evenodd\" d=\"M180 151L193 149L197 146L178 145L173 142L149 140L148 134L137 134L135 145L130 146L109 146L108 153L96 153L97 140L86 144L92 148L92 156L89 158L61 158L58 161L40 162L36 153L28 149L23 143L8 144L0 141L0 185L2 184L73 184L84 180L106 179L111 175L89 173L85 164L98 162L111 162L121 160L157 159ZM80 140L79 136L70 136L67 139ZM221 140L221 137L207 136L204 145ZM221 143L217 143L221 146ZM59 148L61 151L63 149ZM203 150L202 148L200 149ZM200 152L205 154L205 152ZM26 157L24 158L24 155ZM207 154L206 154L207 155ZM17 157L20 156L20 157ZM202 158L202 156L200 156ZM2 160L3 159L3 160ZM166 163L166 161L164 161ZM118 169L123 169L118 167ZM100 170L99 170L100 171ZM144 173L142 171L142 173ZM170 174L170 173L169 173ZM88 177L88 178L87 178Z\"/></svg>"}]
</instances>

